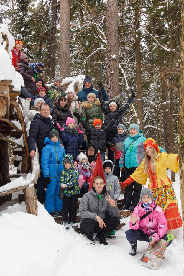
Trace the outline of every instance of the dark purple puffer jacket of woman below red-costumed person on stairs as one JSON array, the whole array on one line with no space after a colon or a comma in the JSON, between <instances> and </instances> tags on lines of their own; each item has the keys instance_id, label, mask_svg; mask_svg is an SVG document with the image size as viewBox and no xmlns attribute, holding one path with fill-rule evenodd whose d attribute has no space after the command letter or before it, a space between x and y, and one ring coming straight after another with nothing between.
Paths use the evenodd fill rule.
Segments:
<instances>
[{"instance_id":1,"label":"dark purple puffer jacket of woman below red-costumed person on stairs","mask_svg":"<svg viewBox=\"0 0 184 276\"><path fill-rule=\"evenodd\" d=\"M17 72L21 74L22 78L24 79L24 85L27 90L31 89L35 83L31 80L31 77L35 78L34 71L28 63L20 58L20 63L18 61L18 70Z\"/></svg>"}]
</instances>

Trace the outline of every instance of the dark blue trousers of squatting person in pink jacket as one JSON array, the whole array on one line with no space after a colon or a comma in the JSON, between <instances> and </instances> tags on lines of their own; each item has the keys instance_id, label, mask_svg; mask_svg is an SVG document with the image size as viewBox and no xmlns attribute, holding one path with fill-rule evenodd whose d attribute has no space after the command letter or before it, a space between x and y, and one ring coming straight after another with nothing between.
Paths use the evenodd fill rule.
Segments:
<instances>
[{"instance_id":1,"label":"dark blue trousers of squatting person in pink jacket","mask_svg":"<svg viewBox=\"0 0 184 276\"><path fill-rule=\"evenodd\" d=\"M149 238L151 236L151 235L148 236L148 234L144 233L139 228L137 230L129 229L128 231L125 232L125 235L130 244L133 244L137 241L149 242L150 241ZM161 239L164 239L165 241L167 241L167 234L165 234ZM169 246L171 244L171 242L172 242L172 240L169 241L167 246Z\"/></svg>"}]
</instances>

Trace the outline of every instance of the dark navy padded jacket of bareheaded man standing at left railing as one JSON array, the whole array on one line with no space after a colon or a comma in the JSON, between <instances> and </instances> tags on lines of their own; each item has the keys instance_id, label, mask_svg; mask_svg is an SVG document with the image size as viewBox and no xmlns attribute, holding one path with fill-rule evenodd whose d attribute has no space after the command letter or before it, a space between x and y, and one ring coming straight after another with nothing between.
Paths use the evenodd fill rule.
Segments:
<instances>
[{"instance_id":1,"label":"dark navy padded jacket of bareheaded man standing at left railing","mask_svg":"<svg viewBox=\"0 0 184 276\"><path fill-rule=\"evenodd\" d=\"M36 151L35 143L37 143L39 158L41 159L42 149L45 146L44 140L49 136L49 132L52 129L55 129L53 120L49 117L44 118L39 113L37 113L30 124L28 136L29 152L32 150Z\"/></svg>"}]
</instances>

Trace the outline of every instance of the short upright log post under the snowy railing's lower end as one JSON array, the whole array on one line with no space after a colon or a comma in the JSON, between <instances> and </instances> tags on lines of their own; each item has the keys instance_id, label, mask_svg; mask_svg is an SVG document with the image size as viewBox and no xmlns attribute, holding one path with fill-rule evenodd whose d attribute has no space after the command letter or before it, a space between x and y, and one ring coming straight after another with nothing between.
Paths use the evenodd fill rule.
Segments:
<instances>
[{"instance_id":1,"label":"short upright log post under the snowy railing's lower end","mask_svg":"<svg viewBox=\"0 0 184 276\"><path fill-rule=\"evenodd\" d=\"M27 214L32 214L37 216L38 213L38 203L37 196L34 188L34 184L24 189L24 199L26 203Z\"/></svg>"}]
</instances>

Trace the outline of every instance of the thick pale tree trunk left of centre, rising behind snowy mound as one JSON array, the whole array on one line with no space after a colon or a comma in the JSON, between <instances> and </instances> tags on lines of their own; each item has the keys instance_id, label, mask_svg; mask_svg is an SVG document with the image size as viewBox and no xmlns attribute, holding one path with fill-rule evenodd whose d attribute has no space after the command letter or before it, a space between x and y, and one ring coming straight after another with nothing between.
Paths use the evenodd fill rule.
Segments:
<instances>
[{"instance_id":1,"label":"thick pale tree trunk left of centre, rising behind snowy mound","mask_svg":"<svg viewBox=\"0 0 184 276\"><path fill-rule=\"evenodd\" d=\"M60 76L70 77L70 0L60 0Z\"/></svg>"}]
</instances>

